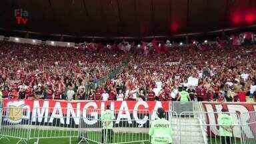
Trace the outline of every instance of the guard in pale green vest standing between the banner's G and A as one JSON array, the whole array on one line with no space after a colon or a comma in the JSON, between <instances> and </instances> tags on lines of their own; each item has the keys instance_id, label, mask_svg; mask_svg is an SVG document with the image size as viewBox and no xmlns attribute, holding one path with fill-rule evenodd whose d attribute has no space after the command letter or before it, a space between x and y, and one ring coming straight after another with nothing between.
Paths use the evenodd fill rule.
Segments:
<instances>
[{"instance_id":1,"label":"guard in pale green vest standing between the banner's G and A","mask_svg":"<svg viewBox=\"0 0 256 144\"><path fill-rule=\"evenodd\" d=\"M115 115L113 111L110 110L110 105L107 105L106 111L104 111L101 115L101 122L103 125L103 129L101 131L101 143L107 143L107 139L109 139L109 143L112 143L113 140L113 120L115 119Z\"/></svg>"}]
</instances>

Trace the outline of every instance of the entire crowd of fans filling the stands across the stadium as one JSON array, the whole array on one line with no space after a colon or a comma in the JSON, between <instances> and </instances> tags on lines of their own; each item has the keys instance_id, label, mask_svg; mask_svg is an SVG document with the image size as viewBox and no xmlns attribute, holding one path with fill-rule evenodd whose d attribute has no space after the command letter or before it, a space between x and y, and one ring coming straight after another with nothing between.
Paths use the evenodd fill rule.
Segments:
<instances>
[{"instance_id":1,"label":"entire crowd of fans filling the stands across the stadium","mask_svg":"<svg viewBox=\"0 0 256 144\"><path fill-rule=\"evenodd\" d=\"M87 99L102 101L246 101L255 97L256 46L171 47L167 53L85 53L73 48L0 43L0 83L6 99ZM131 57L103 87L86 85ZM197 86L187 79L199 79Z\"/></svg>"}]
</instances>

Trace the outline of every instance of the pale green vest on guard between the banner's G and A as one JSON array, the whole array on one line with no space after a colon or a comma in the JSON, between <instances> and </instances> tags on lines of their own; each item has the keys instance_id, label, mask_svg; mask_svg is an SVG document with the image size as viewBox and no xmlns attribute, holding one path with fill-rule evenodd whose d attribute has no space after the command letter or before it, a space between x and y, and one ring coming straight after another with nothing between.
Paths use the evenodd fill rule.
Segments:
<instances>
[{"instance_id":1,"label":"pale green vest on guard between the banner's G and A","mask_svg":"<svg viewBox=\"0 0 256 144\"><path fill-rule=\"evenodd\" d=\"M115 119L115 115L113 111L107 109L101 114L101 122L103 129L113 129L113 120Z\"/></svg>"}]
</instances>

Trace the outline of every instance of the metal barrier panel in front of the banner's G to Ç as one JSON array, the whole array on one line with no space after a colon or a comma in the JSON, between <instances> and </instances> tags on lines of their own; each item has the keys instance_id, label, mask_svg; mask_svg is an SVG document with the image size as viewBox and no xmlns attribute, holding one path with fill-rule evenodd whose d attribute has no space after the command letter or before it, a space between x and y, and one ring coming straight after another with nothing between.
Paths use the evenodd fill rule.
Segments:
<instances>
[{"instance_id":1,"label":"metal barrier panel in front of the banner's G to \u00c7","mask_svg":"<svg viewBox=\"0 0 256 144\"><path fill-rule=\"evenodd\" d=\"M107 122L113 127L103 127L102 110L87 109L81 117L81 140L90 143L143 143L149 141L150 112L148 110L112 110L115 117Z\"/></svg>"}]
</instances>

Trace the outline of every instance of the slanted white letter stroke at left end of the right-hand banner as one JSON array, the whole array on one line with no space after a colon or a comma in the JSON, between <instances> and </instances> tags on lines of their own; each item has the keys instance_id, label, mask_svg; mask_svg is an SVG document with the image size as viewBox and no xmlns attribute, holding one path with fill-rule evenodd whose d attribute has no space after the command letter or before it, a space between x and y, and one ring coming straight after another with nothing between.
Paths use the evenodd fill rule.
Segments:
<instances>
[{"instance_id":1,"label":"slanted white letter stroke at left end of the right-hand banner","mask_svg":"<svg viewBox=\"0 0 256 144\"><path fill-rule=\"evenodd\" d=\"M213 132L214 135L218 135L219 131L216 127L216 121L215 121L215 114L213 113L213 106L211 104L205 104L205 109L208 115L208 119L209 119L209 125L210 125L210 131Z\"/></svg>"}]
</instances>

